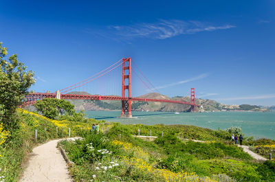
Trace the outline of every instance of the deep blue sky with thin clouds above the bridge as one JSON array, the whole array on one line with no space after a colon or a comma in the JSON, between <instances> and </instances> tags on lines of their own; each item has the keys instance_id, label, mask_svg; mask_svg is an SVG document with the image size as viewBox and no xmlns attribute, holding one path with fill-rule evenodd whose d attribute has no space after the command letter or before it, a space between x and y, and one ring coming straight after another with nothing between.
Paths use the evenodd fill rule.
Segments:
<instances>
[{"instance_id":1,"label":"deep blue sky with thin clouds above the bridge","mask_svg":"<svg viewBox=\"0 0 275 182\"><path fill-rule=\"evenodd\" d=\"M0 1L0 41L36 73L35 91L131 56L165 95L195 87L224 104L275 105L274 9L272 0Z\"/></svg>"}]
</instances>

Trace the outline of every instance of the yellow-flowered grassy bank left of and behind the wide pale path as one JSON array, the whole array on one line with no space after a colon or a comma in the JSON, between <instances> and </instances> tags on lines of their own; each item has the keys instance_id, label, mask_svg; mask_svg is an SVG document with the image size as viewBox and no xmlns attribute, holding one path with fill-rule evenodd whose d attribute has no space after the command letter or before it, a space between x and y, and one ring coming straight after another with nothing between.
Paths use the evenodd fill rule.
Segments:
<instances>
[{"instance_id":1,"label":"yellow-flowered grassy bank left of and behind the wide pale path","mask_svg":"<svg viewBox=\"0 0 275 182\"><path fill-rule=\"evenodd\" d=\"M23 171L22 164L34 146L50 139L67 137L69 127L72 130L72 137L81 133L81 127L83 130L91 127L91 123L50 120L23 109L18 109L15 120L19 121L19 128L12 131L6 141L0 145L0 176L4 176L5 181L19 181ZM37 139L35 139L35 130L38 133Z\"/></svg>"}]
</instances>

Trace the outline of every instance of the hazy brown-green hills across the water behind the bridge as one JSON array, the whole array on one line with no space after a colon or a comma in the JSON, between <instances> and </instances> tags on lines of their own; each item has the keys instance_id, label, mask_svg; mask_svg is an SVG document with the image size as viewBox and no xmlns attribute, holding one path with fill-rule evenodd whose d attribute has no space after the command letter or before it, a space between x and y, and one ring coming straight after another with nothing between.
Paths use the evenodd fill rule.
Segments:
<instances>
[{"instance_id":1,"label":"hazy brown-green hills across the water behind the bridge","mask_svg":"<svg viewBox=\"0 0 275 182\"><path fill-rule=\"evenodd\" d=\"M89 93L85 92L74 92L71 94L84 94L89 95ZM115 96L115 95L113 95ZM177 100L181 102L190 102L190 98L188 97L173 97L169 98L166 95L162 95L159 93L147 93L145 95L140 95L138 98L150 98L150 99L164 99L164 100ZM120 110L121 109L121 101L115 100L69 100L72 104L75 105L76 110ZM221 104L214 100L203 100L196 99L196 103L203 106L201 109L197 109L197 111L221 111L225 110L234 110L237 106L228 106L225 104ZM172 104L172 103L163 103L163 102L132 102L132 110L133 111L170 111L170 112L189 112L190 106L184 104Z\"/></svg>"}]
</instances>

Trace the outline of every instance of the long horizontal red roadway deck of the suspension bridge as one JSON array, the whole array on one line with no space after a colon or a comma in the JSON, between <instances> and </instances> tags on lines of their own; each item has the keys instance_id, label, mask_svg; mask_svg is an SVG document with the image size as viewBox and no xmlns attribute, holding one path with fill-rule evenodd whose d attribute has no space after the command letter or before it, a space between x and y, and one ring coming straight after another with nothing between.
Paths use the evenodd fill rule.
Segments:
<instances>
[{"instance_id":1,"label":"long horizontal red roadway deck of the suspension bridge","mask_svg":"<svg viewBox=\"0 0 275 182\"><path fill-rule=\"evenodd\" d=\"M56 98L56 93L30 93L26 96L26 101L22 106L28 106L34 104L37 100L43 98ZM176 100L158 100L148 98L122 98L119 96L104 96L104 95L74 95L74 94L61 94L61 99L65 100L131 100L139 102L167 102L173 104L186 104L190 106L199 106L198 104L192 104L191 102L181 102Z\"/></svg>"}]
</instances>

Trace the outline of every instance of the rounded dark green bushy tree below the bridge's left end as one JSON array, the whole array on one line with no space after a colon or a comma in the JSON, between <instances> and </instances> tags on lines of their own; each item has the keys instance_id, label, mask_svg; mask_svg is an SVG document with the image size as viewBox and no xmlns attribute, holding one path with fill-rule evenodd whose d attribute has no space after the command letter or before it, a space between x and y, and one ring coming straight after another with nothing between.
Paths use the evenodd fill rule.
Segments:
<instances>
[{"instance_id":1,"label":"rounded dark green bushy tree below the bridge's left end","mask_svg":"<svg viewBox=\"0 0 275 182\"><path fill-rule=\"evenodd\" d=\"M34 106L45 117L55 119L58 115L74 115L74 105L67 100L59 100L55 98L45 98L38 100Z\"/></svg>"}]
</instances>

